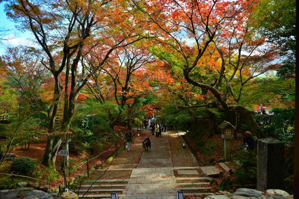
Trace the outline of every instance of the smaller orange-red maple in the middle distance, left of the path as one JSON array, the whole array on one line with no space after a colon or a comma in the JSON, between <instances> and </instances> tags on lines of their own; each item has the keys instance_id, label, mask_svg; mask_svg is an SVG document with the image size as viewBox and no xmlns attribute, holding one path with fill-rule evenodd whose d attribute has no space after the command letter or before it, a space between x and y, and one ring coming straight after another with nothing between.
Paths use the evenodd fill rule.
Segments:
<instances>
[{"instance_id":1,"label":"smaller orange-red maple in the middle distance, left of the path","mask_svg":"<svg viewBox=\"0 0 299 199\"><path fill-rule=\"evenodd\" d=\"M98 53L94 50L90 57L86 57L83 64L88 70L94 70L101 64ZM136 48L133 45L121 47L112 53L101 70L93 74L92 82L87 84L92 95L100 103L103 104L109 99L120 107L116 114L112 114L112 110L107 111L112 129L123 111L126 111L126 117L121 120L127 121L131 129L131 117L136 104L152 90L148 84L147 69L152 60L153 57L145 48ZM106 94L102 94L102 90Z\"/></svg>"}]
</instances>

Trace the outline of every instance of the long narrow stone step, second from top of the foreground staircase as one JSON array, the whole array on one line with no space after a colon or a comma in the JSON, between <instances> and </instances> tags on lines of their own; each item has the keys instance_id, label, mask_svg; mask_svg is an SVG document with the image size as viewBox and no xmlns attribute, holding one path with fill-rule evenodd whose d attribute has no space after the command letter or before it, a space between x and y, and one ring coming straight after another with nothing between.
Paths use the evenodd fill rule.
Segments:
<instances>
[{"instance_id":1,"label":"long narrow stone step, second from top of the foreground staircase","mask_svg":"<svg viewBox=\"0 0 299 199\"><path fill-rule=\"evenodd\" d=\"M207 177L181 177L181 178L155 178L155 179L101 179L101 180L86 180L84 183L93 183L93 182L134 182L134 181L169 181L169 180L204 180Z\"/></svg>"}]
</instances>

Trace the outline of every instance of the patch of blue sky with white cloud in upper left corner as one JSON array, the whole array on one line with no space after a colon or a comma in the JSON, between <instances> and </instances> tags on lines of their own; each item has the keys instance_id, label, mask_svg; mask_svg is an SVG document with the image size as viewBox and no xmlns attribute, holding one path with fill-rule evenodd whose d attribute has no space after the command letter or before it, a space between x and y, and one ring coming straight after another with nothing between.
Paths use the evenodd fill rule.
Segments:
<instances>
[{"instance_id":1,"label":"patch of blue sky with white cloud in upper left corner","mask_svg":"<svg viewBox=\"0 0 299 199\"><path fill-rule=\"evenodd\" d=\"M5 27L6 29L12 29L10 36L13 36L13 39L8 41L4 41L3 44L0 44L0 55L5 52L5 48L7 46L17 46L19 44L29 44L30 42L27 38L32 38L32 34L29 31L20 32L15 28L15 23L9 19L7 19L6 14L4 12L4 2L0 3L0 27Z\"/></svg>"}]
</instances>

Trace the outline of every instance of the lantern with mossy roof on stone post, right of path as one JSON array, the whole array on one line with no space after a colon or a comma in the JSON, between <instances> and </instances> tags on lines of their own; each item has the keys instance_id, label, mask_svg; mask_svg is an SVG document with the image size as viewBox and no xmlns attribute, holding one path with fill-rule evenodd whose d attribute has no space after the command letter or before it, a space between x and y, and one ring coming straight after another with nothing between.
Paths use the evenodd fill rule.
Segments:
<instances>
[{"instance_id":1,"label":"lantern with mossy roof on stone post, right of path","mask_svg":"<svg viewBox=\"0 0 299 199\"><path fill-rule=\"evenodd\" d=\"M224 139L224 159L230 161L230 139L234 138L235 127L227 121L223 121L219 126L221 138Z\"/></svg>"}]
</instances>

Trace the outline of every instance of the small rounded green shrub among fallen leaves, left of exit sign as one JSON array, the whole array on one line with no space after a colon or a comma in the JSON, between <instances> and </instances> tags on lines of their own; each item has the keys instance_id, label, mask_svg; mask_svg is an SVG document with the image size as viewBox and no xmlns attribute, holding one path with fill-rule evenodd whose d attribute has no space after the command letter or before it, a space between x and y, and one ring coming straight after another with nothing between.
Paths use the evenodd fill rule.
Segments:
<instances>
[{"instance_id":1,"label":"small rounded green shrub among fallen leaves, left of exit sign","mask_svg":"<svg viewBox=\"0 0 299 199\"><path fill-rule=\"evenodd\" d=\"M16 158L12 162L12 170L17 174L28 174L35 167L35 162L27 156Z\"/></svg>"}]
</instances>

